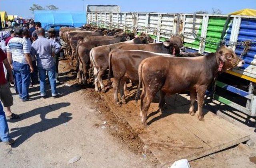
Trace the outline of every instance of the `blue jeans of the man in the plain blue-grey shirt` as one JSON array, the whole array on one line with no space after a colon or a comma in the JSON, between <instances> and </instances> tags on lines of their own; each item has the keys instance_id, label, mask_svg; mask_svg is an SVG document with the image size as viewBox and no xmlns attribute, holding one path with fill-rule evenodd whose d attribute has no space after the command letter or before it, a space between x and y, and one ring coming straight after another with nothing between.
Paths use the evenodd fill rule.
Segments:
<instances>
[{"instance_id":1,"label":"blue jeans of the man in the plain blue-grey shirt","mask_svg":"<svg viewBox=\"0 0 256 168\"><path fill-rule=\"evenodd\" d=\"M38 67L38 71L39 71L39 78L40 78L41 96L46 96L46 90L45 90L46 72L48 74L48 79L51 85L52 96L57 96L56 81L55 81L55 71L56 71L55 66L52 66L51 68Z\"/></svg>"}]
</instances>

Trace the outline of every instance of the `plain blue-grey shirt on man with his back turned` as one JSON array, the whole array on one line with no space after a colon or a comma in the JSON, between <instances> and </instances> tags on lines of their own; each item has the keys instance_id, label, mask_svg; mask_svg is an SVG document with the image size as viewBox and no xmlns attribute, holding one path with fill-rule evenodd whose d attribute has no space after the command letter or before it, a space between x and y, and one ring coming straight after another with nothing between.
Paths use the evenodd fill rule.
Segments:
<instances>
[{"instance_id":1,"label":"plain blue-grey shirt on man with his back turned","mask_svg":"<svg viewBox=\"0 0 256 168\"><path fill-rule=\"evenodd\" d=\"M41 68L51 68L54 66L54 60L52 57L52 51L55 49L57 54L61 46L52 39L46 39L45 37L39 36L34 43L32 43L31 55L36 55L37 66Z\"/></svg>"}]
</instances>

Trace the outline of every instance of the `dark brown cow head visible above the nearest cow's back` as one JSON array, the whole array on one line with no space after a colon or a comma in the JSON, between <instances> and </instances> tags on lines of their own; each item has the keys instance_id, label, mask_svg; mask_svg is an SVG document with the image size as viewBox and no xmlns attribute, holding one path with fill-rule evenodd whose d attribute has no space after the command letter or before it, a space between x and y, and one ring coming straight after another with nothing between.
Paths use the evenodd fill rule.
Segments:
<instances>
[{"instance_id":1,"label":"dark brown cow head visible above the nearest cow's back","mask_svg":"<svg viewBox=\"0 0 256 168\"><path fill-rule=\"evenodd\" d=\"M163 45L170 49L172 55L178 55L180 49L183 47L183 39L183 35L174 35L170 39L164 41Z\"/></svg>"}]
</instances>

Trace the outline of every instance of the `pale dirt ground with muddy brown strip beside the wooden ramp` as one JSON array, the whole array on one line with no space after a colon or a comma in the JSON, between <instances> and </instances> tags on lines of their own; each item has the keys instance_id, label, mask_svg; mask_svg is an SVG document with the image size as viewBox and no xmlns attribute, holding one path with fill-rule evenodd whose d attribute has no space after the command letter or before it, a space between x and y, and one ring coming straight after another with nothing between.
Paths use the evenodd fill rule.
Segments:
<instances>
[{"instance_id":1,"label":"pale dirt ground with muddy brown strip beside the wooden ramp","mask_svg":"<svg viewBox=\"0 0 256 168\"><path fill-rule=\"evenodd\" d=\"M67 61L60 61L59 98L40 99L39 86L30 88L32 101L14 96L12 111L21 115L8 122L16 143L0 143L2 167L161 167L150 152L145 153L138 131L117 119L104 93L93 86L80 86ZM14 90L12 90L14 93ZM127 108L129 106L127 105ZM228 122L228 121L227 121ZM68 160L80 160L68 164ZM255 167L256 150L247 145L191 161L192 167ZM166 165L170 166L170 165ZM0 166L1 167L1 166Z\"/></svg>"}]
</instances>

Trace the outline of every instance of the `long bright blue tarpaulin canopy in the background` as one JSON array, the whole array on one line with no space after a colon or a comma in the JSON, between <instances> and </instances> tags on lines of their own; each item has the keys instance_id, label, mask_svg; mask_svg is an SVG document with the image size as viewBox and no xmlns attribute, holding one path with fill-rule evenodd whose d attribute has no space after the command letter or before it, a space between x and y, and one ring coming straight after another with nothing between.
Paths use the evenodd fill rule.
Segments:
<instances>
[{"instance_id":1,"label":"long bright blue tarpaulin canopy in the background","mask_svg":"<svg viewBox=\"0 0 256 168\"><path fill-rule=\"evenodd\" d=\"M42 27L48 24L73 25L80 27L86 23L86 12L67 12L67 11L50 11L35 10L35 21L40 21Z\"/></svg>"}]
</instances>

